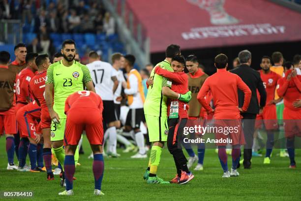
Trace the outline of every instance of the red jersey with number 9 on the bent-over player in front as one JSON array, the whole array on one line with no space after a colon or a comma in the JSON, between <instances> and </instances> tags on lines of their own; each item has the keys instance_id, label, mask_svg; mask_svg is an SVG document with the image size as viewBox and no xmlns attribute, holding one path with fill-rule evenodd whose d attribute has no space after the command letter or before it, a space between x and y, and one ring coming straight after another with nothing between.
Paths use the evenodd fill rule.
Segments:
<instances>
[{"instance_id":1,"label":"red jersey with number 9 on the bent-over player in front","mask_svg":"<svg viewBox=\"0 0 301 201\"><path fill-rule=\"evenodd\" d=\"M90 91L79 91L71 94L65 101L65 114L78 108L99 109L102 114L103 104L100 96Z\"/></svg>"}]
</instances>

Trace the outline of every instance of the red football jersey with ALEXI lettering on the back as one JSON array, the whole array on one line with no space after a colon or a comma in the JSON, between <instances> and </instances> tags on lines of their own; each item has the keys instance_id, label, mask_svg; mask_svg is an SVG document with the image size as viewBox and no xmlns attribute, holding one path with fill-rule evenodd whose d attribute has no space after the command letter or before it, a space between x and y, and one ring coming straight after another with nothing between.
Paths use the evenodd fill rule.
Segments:
<instances>
[{"instance_id":1,"label":"red football jersey with ALEXI lettering on the back","mask_svg":"<svg viewBox=\"0 0 301 201\"><path fill-rule=\"evenodd\" d=\"M36 74L30 81L30 91L35 99L40 103L41 109L47 107L44 92L47 71Z\"/></svg>"}]
</instances>

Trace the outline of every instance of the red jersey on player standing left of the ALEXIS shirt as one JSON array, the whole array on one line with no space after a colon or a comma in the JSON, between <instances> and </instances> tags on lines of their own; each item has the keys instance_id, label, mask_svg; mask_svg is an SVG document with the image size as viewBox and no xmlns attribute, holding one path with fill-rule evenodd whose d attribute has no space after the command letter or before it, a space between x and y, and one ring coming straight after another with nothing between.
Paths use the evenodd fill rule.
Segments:
<instances>
[{"instance_id":1,"label":"red jersey on player standing left of the ALEXIS shirt","mask_svg":"<svg viewBox=\"0 0 301 201\"><path fill-rule=\"evenodd\" d=\"M16 82L17 102L27 102L26 97L30 96L29 83L34 76L34 72L29 68L24 68L18 75Z\"/></svg>"}]
</instances>

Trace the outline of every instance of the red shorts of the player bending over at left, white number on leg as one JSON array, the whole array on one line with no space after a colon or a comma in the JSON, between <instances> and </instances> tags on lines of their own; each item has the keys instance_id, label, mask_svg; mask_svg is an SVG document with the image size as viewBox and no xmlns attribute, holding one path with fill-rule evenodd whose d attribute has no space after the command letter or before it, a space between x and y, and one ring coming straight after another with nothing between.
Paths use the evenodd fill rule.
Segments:
<instances>
[{"instance_id":1,"label":"red shorts of the player bending over at left, white number on leg","mask_svg":"<svg viewBox=\"0 0 301 201\"><path fill-rule=\"evenodd\" d=\"M37 104L28 104L19 109L16 119L21 137L31 137L34 139L36 134L40 134L37 122L39 117L40 107Z\"/></svg>"}]
</instances>

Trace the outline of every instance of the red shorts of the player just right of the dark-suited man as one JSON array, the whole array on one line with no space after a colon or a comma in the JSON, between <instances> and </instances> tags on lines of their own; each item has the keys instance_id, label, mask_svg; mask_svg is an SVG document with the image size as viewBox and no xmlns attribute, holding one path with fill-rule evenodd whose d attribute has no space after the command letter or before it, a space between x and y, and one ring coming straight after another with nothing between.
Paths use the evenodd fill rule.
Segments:
<instances>
[{"instance_id":1,"label":"red shorts of the player just right of the dark-suited man","mask_svg":"<svg viewBox=\"0 0 301 201\"><path fill-rule=\"evenodd\" d=\"M261 114L257 114L255 121L255 128L261 129L262 124L265 125L266 130L277 130L278 120L276 114L276 105L266 105Z\"/></svg>"}]
</instances>

